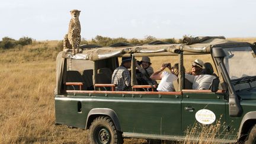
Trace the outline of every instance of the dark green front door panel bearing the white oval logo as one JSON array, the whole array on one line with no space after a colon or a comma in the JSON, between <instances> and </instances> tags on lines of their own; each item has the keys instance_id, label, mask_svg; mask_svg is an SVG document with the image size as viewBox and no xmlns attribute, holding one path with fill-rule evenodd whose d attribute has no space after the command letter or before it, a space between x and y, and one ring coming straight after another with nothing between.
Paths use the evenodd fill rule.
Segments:
<instances>
[{"instance_id":1,"label":"dark green front door panel bearing the white oval logo","mask_svg":"<svg viewBox=\"0 0 256 144\"><path fill-rule=\"evenodd\" d=\"M224 121L226 121L227 110L225 105L227 101L225 100L225 94L222 91L218 92L215 93L210 90L183 90L181 111L184 135L188 135L186 131L191 132L192 127L209 126L209 124L217 124L218 121L220 122L220 125L218 125L220 130L226 130L226 123Z\"/></svg>"}]
</instances>

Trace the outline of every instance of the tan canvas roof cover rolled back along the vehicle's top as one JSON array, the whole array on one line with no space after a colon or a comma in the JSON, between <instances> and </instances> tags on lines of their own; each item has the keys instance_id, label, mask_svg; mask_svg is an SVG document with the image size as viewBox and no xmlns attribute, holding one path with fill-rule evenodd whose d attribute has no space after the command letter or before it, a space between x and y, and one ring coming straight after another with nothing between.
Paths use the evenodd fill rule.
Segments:
<instances>
[{"instance_id":1,"label":"tan canvas roof cover rolled back along the vehicle's top","mask_svg":"<svg viewBox=\"0 0 256 144\"><path fill-rule=\"evenodd\" d=\"M180 51L184 55L209 54L213 47L242 47L251 46L247 42L226 40L225 37L185 37L181 44L143 44L124 47L98 47L82 50L74 56L71 52L65 52L63 57L67 59L101 60L110 57L130 56L174 56Z\"/></svg>"}]
</instances>

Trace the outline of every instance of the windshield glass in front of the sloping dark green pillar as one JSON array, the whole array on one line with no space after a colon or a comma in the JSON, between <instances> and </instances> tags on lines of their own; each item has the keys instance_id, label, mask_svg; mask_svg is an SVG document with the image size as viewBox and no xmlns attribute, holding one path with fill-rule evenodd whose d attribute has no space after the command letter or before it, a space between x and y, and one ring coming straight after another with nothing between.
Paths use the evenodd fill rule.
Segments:
<instances>
[{"instance_id":1,"label":"windshield glass in front of the sloping dark green pillar","mask_svg":"<svg viewBox=\"0 0 256 144\"><path fill-rule=\"evenodd\" d=\"M256 56L251 47L223 49L224 64L236 90L252 88L256 79Z\"/></svg>"}]
</instances>

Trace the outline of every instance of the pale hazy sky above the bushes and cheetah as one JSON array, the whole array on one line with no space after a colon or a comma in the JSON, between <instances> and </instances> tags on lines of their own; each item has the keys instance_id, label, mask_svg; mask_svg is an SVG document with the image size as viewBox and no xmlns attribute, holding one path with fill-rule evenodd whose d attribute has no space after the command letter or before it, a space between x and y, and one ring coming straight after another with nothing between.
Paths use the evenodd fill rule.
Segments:
<instances>
[{"instance_id":1,"label":"pale hazy sky above the bushes and cheetah","mask_svg":"<svg viewBox=\"0 0 256 144\"><path fill-rule=\"evenodd\" d=\"M63 40L81 11L81 37L256 37L255 0L0 0L0 40Z\"/></svg>"}]
</instances>

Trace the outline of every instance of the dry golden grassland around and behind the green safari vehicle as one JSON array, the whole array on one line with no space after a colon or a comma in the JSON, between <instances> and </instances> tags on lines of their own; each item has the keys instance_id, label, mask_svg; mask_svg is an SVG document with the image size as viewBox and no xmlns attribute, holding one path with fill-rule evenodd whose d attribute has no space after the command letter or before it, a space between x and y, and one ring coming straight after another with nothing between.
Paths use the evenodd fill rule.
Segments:
<instances>
[{"instance_id":1,"label":"dry golden grassland around and behind the green safari vehicle","mask_svg":"<svg viewBox=\"0 0 256 144\"><path fill-rule=\"evenodd\" d=\"M256 38L235 39L254 42ZM0 143L89 143L86 130L55 126L55 57L58 41L0 50ZM205 62L210 59L200 57ZM196 56L185 57L188 63ZM152 58L153 68L177 59ZM185 65L187 69L190 64ZM142 143L128 139L125 143Z\"/></svg>"}]
</instances>

